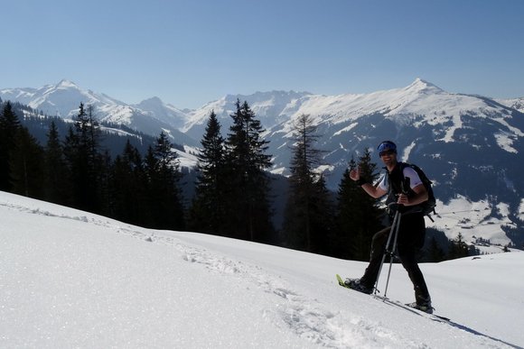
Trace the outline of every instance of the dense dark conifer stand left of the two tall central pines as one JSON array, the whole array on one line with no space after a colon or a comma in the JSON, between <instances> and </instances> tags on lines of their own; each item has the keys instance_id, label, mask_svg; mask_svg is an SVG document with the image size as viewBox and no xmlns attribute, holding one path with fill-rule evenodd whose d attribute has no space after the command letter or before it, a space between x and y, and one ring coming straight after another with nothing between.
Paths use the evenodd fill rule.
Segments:
<instances>
[{"instance_id":1,"label":"dense dark conifer stand left of the two tall central pines","mask_svg":"<svg viewBox=\"0 0 524 349\"><path fill-rule=\"evenodd\" d=\"M43 146L6 102L0 115L0 189L159 229L183 229L172 143L161 133L145 156L126 142L112 160L91 106L64 137L51 122ZM61 140L63 139L63 141Z\"/></svg>"}]
</instances>

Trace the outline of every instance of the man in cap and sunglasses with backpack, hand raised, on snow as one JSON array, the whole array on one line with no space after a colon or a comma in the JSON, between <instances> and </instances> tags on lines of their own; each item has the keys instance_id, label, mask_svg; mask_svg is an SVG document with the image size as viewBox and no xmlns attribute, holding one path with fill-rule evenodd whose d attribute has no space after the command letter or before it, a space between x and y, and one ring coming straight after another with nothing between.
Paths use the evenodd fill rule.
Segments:
<instances>
[{"instance_id":1,"label":"man in cap and sunglasses with backpack, hand raised, on snow","mask_svg":"<svg viewBox=\"0 0 524 349\"><path fill-rule=\"evenodd\" d=\"M409 279L415 289L415 303L408 306L433 313L431 298L426 287L422 271L416 263L416 253L424 245L426 224L420 204L428 199L427 190L416 170L403 166L397 161L397 145L391 141L381 142L378 147L380 159L386 165L387 174L372 185L360 176L360 169L350 171L350 178L356 181L371 197L379 198L388 194L387 204L393 204L402 214L398 228L398 258L406 269ZM408 188L403 188L408 187ZM379 276L382 255L386 251L386 243L390 227L373 235L371 243L370 263L360 279L346 279L345 285L363 293L371 294Z\"/></svg>"}]
</instances>

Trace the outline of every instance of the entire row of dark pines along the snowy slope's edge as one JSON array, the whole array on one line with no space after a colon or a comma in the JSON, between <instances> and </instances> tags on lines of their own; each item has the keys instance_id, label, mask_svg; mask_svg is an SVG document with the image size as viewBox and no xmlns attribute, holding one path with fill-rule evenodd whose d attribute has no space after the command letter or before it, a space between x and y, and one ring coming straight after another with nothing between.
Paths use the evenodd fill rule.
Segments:
<instances>
[{"instance_id":1,"label":"entire row of dark pines along the snowy slope's edge","mask_svg":"<svg viewBox=\"0 0 524 349\"><path fill-rule=\"evenodd\" d=\"M313 118L295 121L284 209L284 223L272 223L272 182L267 169L271 155L266 131L247 102L236 103L232 124L224 135L211 112L198 154L195 195L184 204L182 172L173 143L161 133L145 154L131 142L115 159L100 145L103 134L92 106L80 104L65 137L51 122L41 145L20 123L13 105L5 102L0 115L0 190L75 207L118 220L157 229L218 234L271 243L311 253L367 261L372 235L381 229L384 210L349 177L360 166L377 179L377 164L365 149L351 159L338 191L325 186L323 151ZM63 139L63 140L61 140ZM459 243L463 243L460 241ZM464 251L433 239L425 259L437 262ZM466 249L467 250L467 249ZM466 251L467 253L467 251ZM467 254L466 254L467 255Z\"/></svg>"}]
</instances>

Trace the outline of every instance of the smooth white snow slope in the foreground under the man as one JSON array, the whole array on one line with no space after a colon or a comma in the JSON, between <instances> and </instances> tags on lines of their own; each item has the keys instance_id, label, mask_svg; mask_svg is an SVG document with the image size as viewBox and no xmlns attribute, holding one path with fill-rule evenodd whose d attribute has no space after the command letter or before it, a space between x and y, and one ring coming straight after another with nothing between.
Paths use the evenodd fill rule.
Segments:
<instances>
[{"instance_id":1,"label":"smooth white snow slope in the foreground under the man","mask_svg":"<svg viewBox=\"0 0 524 349\"><path fill-rule=\"evenodd\" d=\"M338 286L361 262L4 192L0 216L2 348L524 347L524 253L422 264L446 324ZM388 296L413 300L401 266Z\"/></svg>"}]
</instances>

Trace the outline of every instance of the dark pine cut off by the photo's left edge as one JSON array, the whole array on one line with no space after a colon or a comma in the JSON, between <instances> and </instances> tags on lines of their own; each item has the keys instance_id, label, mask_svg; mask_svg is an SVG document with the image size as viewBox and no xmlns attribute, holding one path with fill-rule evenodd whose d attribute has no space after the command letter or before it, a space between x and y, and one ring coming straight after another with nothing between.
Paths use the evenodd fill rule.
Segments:
<instances>
[{"instance_id":1,"label":"dark pine cut off by the photo's left edge","mask_svg":"<svg viewBox=\"0 0 524 349\"><path fill-rule=\"evenodd\" d=\"M20 129L18 116L11 102L5 102L0 114L0 190L11 191L10 159L15 149L15 137Z\"/></svg>"}]
</instances>

